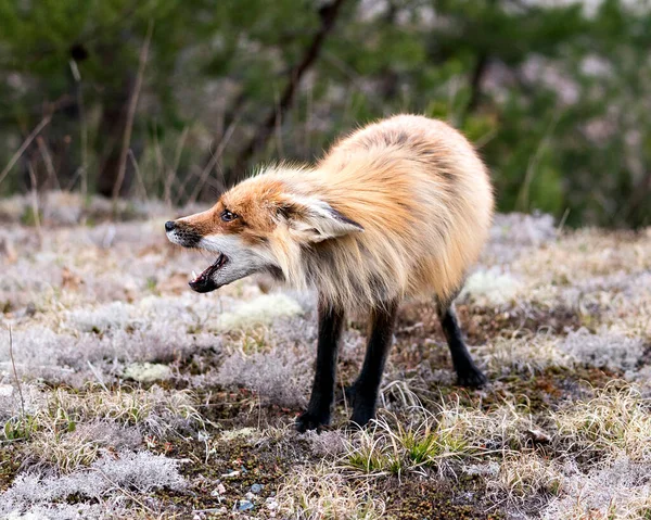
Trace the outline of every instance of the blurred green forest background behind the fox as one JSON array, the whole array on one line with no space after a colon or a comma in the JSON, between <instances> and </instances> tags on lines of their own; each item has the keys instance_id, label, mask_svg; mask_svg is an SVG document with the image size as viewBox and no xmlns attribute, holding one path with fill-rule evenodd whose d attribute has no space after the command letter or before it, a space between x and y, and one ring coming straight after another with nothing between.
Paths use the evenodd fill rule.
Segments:
<instances>
[{"instance_id":1,"label":"blurred green forest background behind the fox","mask_svg":"<svg viewBox=\"0 0 651 520\"><path fill-rule=\"evenodd\" d=\"M0 0L0 194L208 201L416 112L501 211L646 226L650 49L644 0Z\"/></svg>"}]
</instances>

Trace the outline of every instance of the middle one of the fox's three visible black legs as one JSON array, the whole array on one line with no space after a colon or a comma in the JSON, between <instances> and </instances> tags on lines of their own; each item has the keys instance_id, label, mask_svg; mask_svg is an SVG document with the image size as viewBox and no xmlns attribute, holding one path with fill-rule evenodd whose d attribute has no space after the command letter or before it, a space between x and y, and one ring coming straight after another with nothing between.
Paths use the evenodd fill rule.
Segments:
<instances>
[{"instance_id":1,"label":"middle one of the fox's three visible black legs","mask_svg":"<svg viewBox=\"0 0 651 520\"><path fill-rule=\"evenodd\" d=\"M397 302L391 302L385 307L371 312L363 366L348 392L348 396L353 401L350 422L354 424L363 427L375 417L378 393L384 365L391 351L397 309Z\"/></svg>"}]
</instances>

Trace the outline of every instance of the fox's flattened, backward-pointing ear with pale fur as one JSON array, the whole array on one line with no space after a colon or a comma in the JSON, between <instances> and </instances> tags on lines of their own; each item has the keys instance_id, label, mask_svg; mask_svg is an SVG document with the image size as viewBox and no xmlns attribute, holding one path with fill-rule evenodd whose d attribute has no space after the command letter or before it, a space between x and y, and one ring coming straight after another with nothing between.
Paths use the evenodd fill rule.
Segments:
<instances>
[{"instance_id":1,"label":"fox's flattened, backward-pointing ear with pale fur","mask_svg":"<svg viewBox=\"0 0 651 520\"><path fill-rule=\"evenodd\" d=\"M326 201L312 196L292 196L281 213L288 219L290 229L306 242L322 242L363 231L361 225Z\"/></svg>"}]
</instances>

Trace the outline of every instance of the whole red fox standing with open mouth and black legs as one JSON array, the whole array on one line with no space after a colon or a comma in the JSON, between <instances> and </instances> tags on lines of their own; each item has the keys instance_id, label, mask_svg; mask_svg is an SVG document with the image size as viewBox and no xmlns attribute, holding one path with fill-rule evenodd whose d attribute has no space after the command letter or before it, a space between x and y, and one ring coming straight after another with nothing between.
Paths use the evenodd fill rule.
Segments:
<instances>
[{"instance_id":1,"label":"whole red fox standing with open mouth and black legs","mask_svg":"<svg viewBox=\"0 0 651 520\"><path fill-rule=\"evenodd\" d=\"M493 217L488 173L452 127L397 115L354 131L316 165L263 167L208 211L165 224L171 242L217 259L190 281L208 292L266 271L319 294L316 375L298 431L330 423L345 314L366 310L370 332L349 389L352 422L365 426L408 296L434 297L458 382L481 386L452 301L476 261Z\"/></svg>"}]
</instances>

